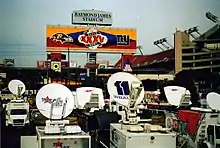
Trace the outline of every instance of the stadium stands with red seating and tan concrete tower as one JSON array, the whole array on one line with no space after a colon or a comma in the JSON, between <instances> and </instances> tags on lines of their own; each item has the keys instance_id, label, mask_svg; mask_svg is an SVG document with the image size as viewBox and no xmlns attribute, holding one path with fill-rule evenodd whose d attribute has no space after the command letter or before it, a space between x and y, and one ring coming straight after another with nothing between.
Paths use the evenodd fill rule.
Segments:
<instances>
[{"instance_id":1,"label":"stadium stands with red seating and tan concrete tower","mask_svg":"<svg viewBox=\"0 0 220 148\"><path fill-rule=\"evenodd\" d=\"M176 30L172 49L151 55L134 55L132 68L137 71L152 69L175 75L188 71L186 76L193 77L199 92L219 89L220 25L213 26L203 34L198 33L198 37L192 35L193 32L198 32L198 28ZM121 61L122 59L115 67L121 67Z\"/></svg>"}]
</instances>

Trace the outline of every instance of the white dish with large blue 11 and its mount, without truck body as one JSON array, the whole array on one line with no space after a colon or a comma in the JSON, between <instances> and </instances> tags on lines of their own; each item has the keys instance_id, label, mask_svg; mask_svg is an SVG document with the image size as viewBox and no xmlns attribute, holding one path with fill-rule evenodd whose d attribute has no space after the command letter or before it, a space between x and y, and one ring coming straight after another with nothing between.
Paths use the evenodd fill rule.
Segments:
<instances>
[{"instance_id":1,"label":"white dish with large blue 11 and its mount, without truck body","mask_svg":"<svg viewBox=\"0 0 220 148\"><path fill-rule=\"evenodd\" d=\"M137 105L144 99L144 87L142 82L126 72L113 74L107 83L111 101L125 107L123 123L137 124L140 117L137 116Z\"/></svg>"}]
</instances>

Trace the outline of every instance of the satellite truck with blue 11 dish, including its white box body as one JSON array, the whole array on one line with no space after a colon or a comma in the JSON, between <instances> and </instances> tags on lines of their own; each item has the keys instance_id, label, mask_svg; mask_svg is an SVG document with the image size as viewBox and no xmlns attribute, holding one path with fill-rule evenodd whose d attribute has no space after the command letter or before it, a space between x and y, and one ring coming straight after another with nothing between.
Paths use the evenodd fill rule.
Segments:
<instances>
[{"instance_id":1,"label":"satellite truck with blue 11 dish, including its white box body","mask_svg":"<svg viewBox=\"0 0 220 148\"><path fill-rule=\"evenodd\" d=\"M176 148L176 133L138 116L144 88L135 76L118 72L107 83L111 101L124 108L122 120L110 124L110 148Z\"/></svg>"}]
</instances>

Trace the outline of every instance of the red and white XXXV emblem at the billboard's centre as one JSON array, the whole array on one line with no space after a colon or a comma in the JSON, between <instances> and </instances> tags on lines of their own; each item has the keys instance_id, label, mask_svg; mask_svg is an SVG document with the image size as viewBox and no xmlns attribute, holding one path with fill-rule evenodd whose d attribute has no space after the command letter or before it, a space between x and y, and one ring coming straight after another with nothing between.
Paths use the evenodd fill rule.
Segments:
<instances>
[{"instance_id":1,"label":"red and white XXXV emblem at the billboard's centre","mask_svg":"<svg viewBox=\"0 0 220 148\"><path fill-rule=\"evenodd\" d=\"M97 49L102 47L103 44L106 44L108 38L101 34L98 30L92 28L84 32L83 35L78 37L80 43L84 44L89 49Z\"/></svg>"}]
</instances>

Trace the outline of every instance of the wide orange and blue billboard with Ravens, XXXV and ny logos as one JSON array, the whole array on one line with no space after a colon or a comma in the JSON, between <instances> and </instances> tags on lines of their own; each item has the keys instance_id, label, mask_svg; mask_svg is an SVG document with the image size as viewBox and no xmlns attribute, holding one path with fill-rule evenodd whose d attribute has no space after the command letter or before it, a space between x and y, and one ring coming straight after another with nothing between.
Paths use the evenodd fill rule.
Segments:
<instances>
[{"instance_id":1,"label":"wide orange and blue billboard with Ravens, XXXV and ny logos","mask_svg":"<svg viewBox=\"0 0 220 148\"><path fill-rule=\"evenodd\" d=\"M48 52L77 51L133 54L137 31L132 28L47 26Z\"/></svg>"}]
</instances>

